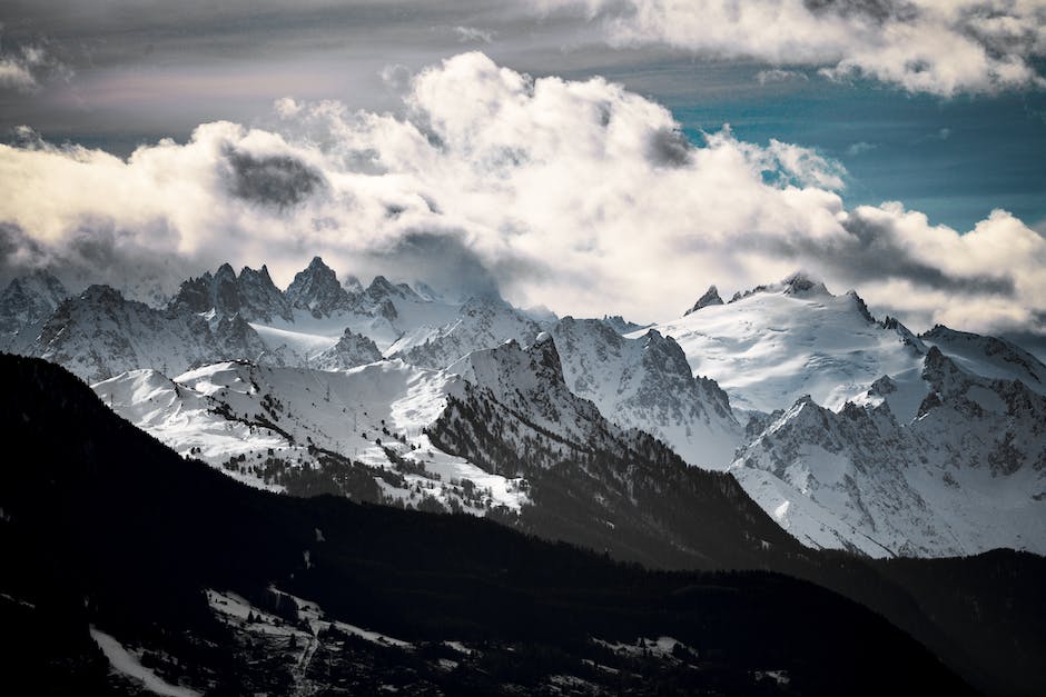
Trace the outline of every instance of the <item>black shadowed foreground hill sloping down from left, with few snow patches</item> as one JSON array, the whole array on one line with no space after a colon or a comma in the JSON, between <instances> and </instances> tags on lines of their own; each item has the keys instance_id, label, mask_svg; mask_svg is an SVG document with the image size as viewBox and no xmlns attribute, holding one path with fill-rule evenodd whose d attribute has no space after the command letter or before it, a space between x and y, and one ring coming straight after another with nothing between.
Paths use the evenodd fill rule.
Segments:
<instances>
[{"instance_id":1,"label":"black shadowed foreground hill sloping down from left, with few snow patches","mask_svg":"<svg viewBox=\"0 0 1046 697\"><path fill-rule=\"evenodd\" d=\"M471 517L259 492L182 460L63 369L0 356L0 422L28 454L0 470L7 685L135 694L93 627L157 679L209 694L969 691L812 584L654 572Z\"/></svg>"}]
</instances>

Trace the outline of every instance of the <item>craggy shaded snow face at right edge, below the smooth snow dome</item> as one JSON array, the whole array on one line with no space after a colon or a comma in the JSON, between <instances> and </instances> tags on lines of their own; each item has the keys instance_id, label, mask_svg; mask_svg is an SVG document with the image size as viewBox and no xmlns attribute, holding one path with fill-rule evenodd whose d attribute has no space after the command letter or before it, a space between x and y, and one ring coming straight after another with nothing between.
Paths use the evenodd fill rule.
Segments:
<instances>
[{"instance_id":1,"label":"craggy shaded snow face at right edge, below the smooth snow dome","mask_svg":"<svg viewBox=\"0 0 1046 697\"><path fill-rule=\"evenodd\" d=\"M833 412L797 401L731 472L801 541L872 556L1046 554L1046 399L974 376L936 347L924 399L899 422L884 379ZM885 394L884 394L885 392Z\"/></svg>"}]
</instances>

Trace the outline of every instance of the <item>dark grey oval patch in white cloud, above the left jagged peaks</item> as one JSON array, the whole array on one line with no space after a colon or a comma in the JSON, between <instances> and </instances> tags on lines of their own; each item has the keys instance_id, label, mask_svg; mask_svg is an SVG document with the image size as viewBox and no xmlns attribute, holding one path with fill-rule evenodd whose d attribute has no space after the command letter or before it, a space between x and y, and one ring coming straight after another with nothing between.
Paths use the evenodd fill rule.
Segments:
<instances>
[{"instance_id":1,"label":"dark grey oval patch in white cloud, above the left jagged peaks","mask_svg":"<svg viewBox=\"0 0 1046 697\"><path fill-rule=\"evenodd\" d=\"M229 149L233 196L275 208L296 206L324 188L323 175L287 155L254 156Z\"/></svg>"}]
</instances>

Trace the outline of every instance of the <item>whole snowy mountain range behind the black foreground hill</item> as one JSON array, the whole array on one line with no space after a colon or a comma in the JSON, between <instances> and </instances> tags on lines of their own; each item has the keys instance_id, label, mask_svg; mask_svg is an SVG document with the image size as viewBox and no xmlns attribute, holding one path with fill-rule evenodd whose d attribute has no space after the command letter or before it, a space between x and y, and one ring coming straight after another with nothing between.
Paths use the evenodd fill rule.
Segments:
<instances>
[{"instance_id":1,"label":"whole snowy mountain range behind the black foreground hill","mask_svg":"<svg viewBox=\"0 0 1046 697\"><path fill-rule=\"evenodd\" d=\"M1046 554L1046 366L1006 340L916 335L801 273L730 301L712 287L652 326L343 283L318 257L285 290L223 265L162 307L47 272L0 299L0 349L67 368L226 479L471 514L651 568L797 576L953 668L984 654L974 684L1040 684L1034 640L999 645L1012 627L971 638L900 609L932 605L927 578L950 568L906 560Z\"/></svg>"}]
</instances>

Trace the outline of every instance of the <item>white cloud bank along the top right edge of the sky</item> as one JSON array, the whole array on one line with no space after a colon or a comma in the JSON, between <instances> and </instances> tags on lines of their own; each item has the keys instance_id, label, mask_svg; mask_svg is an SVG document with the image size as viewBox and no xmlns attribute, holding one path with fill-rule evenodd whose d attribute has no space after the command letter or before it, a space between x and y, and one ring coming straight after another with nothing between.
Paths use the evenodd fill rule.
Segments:
<instances>
[{"instance_id":1,"label":"white cloud bank along the top right edge of the sky","mask_svg":"<svg viewBox=\"0 0 1046 697\"><path fill-rule=\"evenodd\" d=\"M620 46L667 43L712 58L820 67L950 96L1046 84L1043 0L534 0L583 8ZM778 73L763 73L776 76Z\"/></svg>"}]
</instances>

